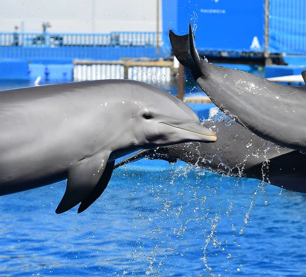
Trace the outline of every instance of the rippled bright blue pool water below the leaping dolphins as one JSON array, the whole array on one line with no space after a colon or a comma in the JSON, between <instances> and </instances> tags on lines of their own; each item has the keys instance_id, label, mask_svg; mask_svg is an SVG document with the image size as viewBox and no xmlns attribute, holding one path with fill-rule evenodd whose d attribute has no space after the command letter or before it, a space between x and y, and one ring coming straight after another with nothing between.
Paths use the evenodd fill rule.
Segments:
<instances>
[{"instance_id":1,"label":"rippled bright blue pool water below the leaping dolphins","mask_svg":"<svg viewBox=\"0 0 306 277\"><path fill-rule=\"evenodd\" d=\"M65 185L0 197L0 276L306 274L301 193L142 160L58 215Z\"/></svg>"}]
</instances>

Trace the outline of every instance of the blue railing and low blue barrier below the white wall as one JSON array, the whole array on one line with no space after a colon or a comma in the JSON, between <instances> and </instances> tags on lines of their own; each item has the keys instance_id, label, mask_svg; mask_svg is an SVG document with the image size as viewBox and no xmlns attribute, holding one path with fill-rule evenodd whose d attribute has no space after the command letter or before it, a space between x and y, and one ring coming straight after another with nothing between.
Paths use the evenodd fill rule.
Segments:
<instances>
[{"instance_id":1,"label":"blue railing and low blue barrier below the white wall","mask_svg":"<svg viewBox=\"0 0 306 277\"><path fill-rule=\"evenodd\" d=\"M71 81L74 59L112 61L121 58L170 57L170 50L156 46L0 46L0 79L41 82Z\"/></svg>"}]
</instances>

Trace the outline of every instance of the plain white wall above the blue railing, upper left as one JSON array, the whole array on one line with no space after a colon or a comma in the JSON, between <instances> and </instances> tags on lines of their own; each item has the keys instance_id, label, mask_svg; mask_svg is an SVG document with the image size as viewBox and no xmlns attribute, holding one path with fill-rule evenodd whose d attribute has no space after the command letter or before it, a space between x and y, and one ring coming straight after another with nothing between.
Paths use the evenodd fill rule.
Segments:
<instances>
[{"instance_id":1,"label":"plain white wall above the blue railing, upper left","mask_svg":"<svg viewBox=\"0 0 306 277\"><path fill-rule=\"evenodd\" d=\"M1 32L21 28L22 22L24 32L41 32L43 22L52 33L157 31L157 1L2 0L0 11Z\"/></svg>"}]
</instances>

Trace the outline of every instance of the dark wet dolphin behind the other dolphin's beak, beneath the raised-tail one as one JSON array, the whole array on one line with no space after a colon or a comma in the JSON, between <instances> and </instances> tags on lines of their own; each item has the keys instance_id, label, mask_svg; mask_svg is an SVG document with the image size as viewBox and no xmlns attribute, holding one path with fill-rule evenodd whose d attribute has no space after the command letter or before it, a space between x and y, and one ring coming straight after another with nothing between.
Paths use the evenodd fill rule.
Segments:
<instances>
[{"instance_id":1,"label":"dark wet dolphin behind the other dolphin's beak, beneath the raised-tail one","mask_svg":"<svg viewBox=\"0 0 306 277\"><path fill-rule=\"evenodd\" d=\"M203 126L215 131L215 143L192 142L142 150L115 164L115 169L142 158L170 163L182 160L217 174L254 178L306 193L306 154L265 141L224 115L203 121Z\"/></svg>"}]
</instances>

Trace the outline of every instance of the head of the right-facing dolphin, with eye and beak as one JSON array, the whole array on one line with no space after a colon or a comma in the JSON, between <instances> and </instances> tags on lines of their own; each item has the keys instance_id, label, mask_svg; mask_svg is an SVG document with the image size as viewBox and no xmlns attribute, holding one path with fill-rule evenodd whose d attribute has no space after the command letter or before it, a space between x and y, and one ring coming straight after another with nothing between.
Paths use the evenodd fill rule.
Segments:
<instances>
[{"instance_id":1,"label":"head of the right-facing dolphin, with eye and beak","mask_svg":"<svg viewBox=\"0 0 306 277\"><path fill-rule=\"evenodd\" d=\"M216 135L200 124L196 113L183 101L153 86L133 92L133 119L136 141L143 148L184 142L216 141Z\"/></svg>"}]
</instances>

